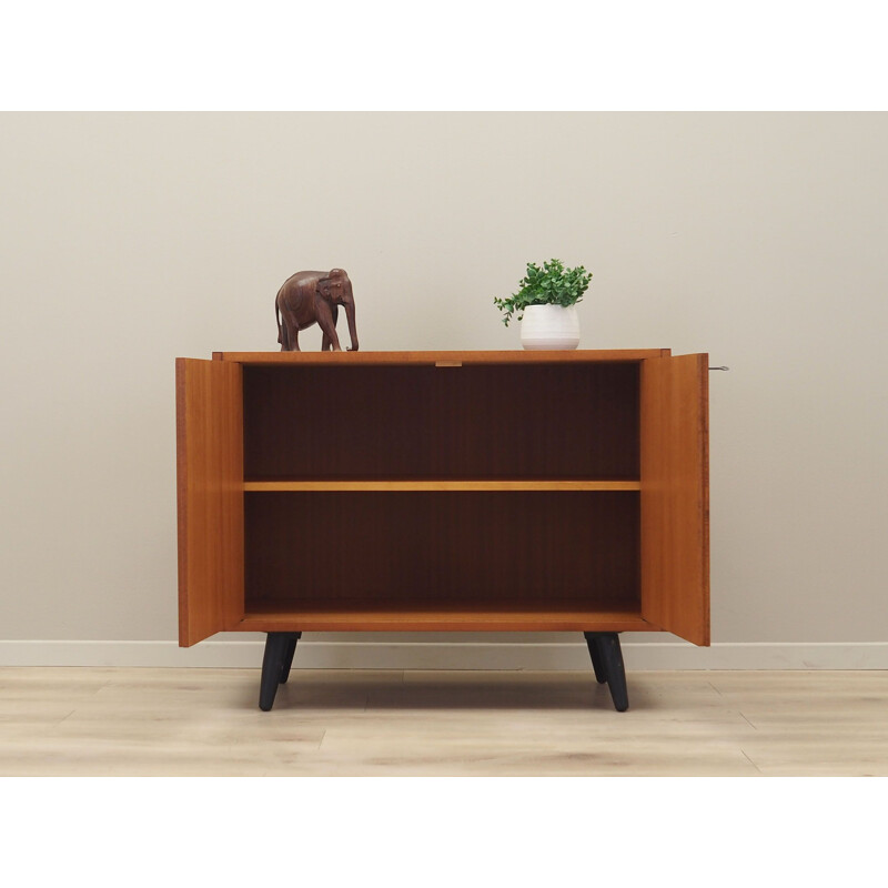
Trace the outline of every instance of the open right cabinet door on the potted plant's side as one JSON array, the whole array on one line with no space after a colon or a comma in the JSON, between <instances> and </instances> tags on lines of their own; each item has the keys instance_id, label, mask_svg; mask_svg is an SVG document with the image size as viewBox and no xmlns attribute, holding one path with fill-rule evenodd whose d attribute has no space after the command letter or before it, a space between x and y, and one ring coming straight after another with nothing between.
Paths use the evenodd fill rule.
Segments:
<instances>
[{"instance_id":1,"label":"open right cabinet door on the potted plant's side","mask_svg":"<svg viewBox=\"0 0 888 888\"><path fill-rule=\"evenodd\" d=\"M642 362L642 616L709 644L707 354Z\"/></svg>"}]
</instances>

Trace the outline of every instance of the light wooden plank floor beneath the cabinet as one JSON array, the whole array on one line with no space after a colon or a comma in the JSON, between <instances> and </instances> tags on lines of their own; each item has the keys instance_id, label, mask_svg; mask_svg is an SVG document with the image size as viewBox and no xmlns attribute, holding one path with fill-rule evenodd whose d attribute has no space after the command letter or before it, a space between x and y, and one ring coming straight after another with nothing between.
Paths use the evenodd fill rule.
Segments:
<instances>
[{"instance_id":1,"label":"light wooden plank floor beneath the cabinet","mask_svg":"<svg viewBox=\"0 0 888 888\"><path fill-rule=\"evenodd\" d=\"M0 668L0 775L888 776L888 672Z\"/></svg>"}]
</instances>

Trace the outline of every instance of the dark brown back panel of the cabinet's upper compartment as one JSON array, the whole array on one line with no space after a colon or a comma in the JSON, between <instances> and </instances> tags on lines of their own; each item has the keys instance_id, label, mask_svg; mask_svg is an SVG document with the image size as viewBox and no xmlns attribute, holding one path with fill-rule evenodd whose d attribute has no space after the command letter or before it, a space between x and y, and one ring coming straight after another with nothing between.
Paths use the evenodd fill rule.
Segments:
<instances>
[{"instance_id":1,"label":"dark brown back panel of the cabinet's upper compartment","mask_svg":"<svg viewBox=\"0 0 888 888\"><path fill-rule=\"evenodd\" d=\"M244 476L638 477L638 364L244 366Z\"/></svg>"}]
</instances>

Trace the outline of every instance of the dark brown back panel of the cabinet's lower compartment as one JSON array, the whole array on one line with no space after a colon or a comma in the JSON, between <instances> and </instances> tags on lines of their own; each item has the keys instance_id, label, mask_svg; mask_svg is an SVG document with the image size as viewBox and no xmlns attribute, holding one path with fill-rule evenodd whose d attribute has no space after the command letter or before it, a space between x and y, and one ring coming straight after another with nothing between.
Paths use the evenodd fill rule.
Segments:
<instances>
[{"instance_id":1,"label":"dark brown back panel of the cabinet's lower compartment","mask_svg":"<svg viewBox=\"0 0 888 888\"><path fill-rule=\"evenodd\" d=\"M637 492L248 493L246 609L639 605Z\"/></svg>"}]
</instances>

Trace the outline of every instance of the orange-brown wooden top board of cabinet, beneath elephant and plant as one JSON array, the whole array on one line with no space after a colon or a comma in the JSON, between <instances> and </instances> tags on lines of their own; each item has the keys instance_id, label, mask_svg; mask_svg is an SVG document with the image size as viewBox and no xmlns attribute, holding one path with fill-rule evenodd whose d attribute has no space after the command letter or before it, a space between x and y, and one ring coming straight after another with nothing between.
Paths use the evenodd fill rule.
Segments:
<instances>
[{"instance_id":1,"label":"orange-brown wooden top board of cabinet, beneath elephant and plant","mask_svg":"<svg viewBox=\"0 0 888 888\"><path fill-rule=\"evenodd\" d=\"M577 349L575 351L494 352L213 352L216 361L240 364L562 364L594 361L644 361L663 357L669 349Z\"/></svg>"}]
</instances>

